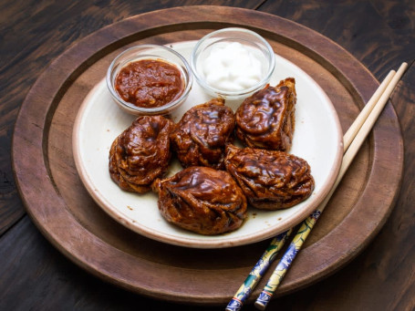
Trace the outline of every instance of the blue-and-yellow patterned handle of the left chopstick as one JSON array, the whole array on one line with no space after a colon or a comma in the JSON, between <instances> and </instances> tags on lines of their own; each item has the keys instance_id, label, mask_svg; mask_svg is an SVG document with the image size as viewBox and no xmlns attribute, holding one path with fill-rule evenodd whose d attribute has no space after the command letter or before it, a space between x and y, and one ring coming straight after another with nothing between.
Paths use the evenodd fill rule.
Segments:
<instances>
[{"instance_id":1,"label":"blue-and-yellow patterned handle of the left chopstick","mask_svg":"<svg viewBox=\"0 0 415 311\"><path fill-rule=\"evenodd\" d=\"M271 241L268 248L265 250L264 254L255 264L251 273L244 280L243 285L239 287L233 298L226 306L226 311L239 311L244 305L244 301L249 295L251 295L255 286L261 280L262 276L265 274L269 265L274 262L276 254L284 246L285 241L288 239L289 235L293 232L293 229L289 229L284 233L280 233Z\"/></svg>"}]
</instances>

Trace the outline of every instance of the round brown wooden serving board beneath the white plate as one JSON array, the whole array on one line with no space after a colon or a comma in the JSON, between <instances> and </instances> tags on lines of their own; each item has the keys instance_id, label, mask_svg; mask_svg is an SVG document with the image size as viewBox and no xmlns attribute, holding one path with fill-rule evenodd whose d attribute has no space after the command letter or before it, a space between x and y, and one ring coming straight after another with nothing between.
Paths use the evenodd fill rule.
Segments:
<instances>
[{"instance_id":1,"label":"round brown wooden serving board beneath the white plate","mask_svg":"<svg viewBox=\"0 0 415 311\"><path fill-rule=\"evenodd\" d=\"M122 49L199 39L227 26L248 27L265 36L276 54L314 78L332 100L344 131L379 85L367 68L327 37L278 16L246 9L188 6L154 11L82 39L47 67L28 93L16 120L13 161L27 213L52 244L91 274L140 295L226 304L269 243L189 249L133 233L88 195L71 149L80 104ZM332 274L371 241L393 208L402 165L399 122L389 104L277 295ZM251 302L272 270L257 286Z\"/></svg>"}]
</instances>

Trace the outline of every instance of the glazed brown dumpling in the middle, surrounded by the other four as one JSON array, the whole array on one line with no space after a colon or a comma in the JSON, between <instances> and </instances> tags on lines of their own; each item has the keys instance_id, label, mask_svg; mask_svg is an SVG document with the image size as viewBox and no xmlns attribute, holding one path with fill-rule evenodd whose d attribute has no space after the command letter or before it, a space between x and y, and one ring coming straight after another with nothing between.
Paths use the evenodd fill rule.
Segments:
<instances>
[{"instance_id":1,"label":"glazed brown dumpling in the middle, surrounded by the other four","mask_svg":"<svg viewBox=\"0 0 415 311\"><path fill-rule=\"evenodd\" d=\"M224 147L233 141L233 110L222 98L189 109L171 133L171 145L182 167L224 169Z\"/></svg>"}]
</instances>

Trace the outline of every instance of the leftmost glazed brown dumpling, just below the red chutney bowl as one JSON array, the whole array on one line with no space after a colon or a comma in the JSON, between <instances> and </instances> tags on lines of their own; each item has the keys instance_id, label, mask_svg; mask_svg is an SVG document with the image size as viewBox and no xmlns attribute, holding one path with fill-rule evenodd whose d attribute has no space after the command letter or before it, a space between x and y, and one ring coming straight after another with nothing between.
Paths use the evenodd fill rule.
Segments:
<instances>
[{"instance_id":1,"label":"leftmost glazed brown dumpling, just below the red chutney bowl","mask_svg":"<svg viewBox=\"0 0 415 311\"><path fill-rule=\"evenodd\" d=\"M141 116L117 137L109 150L109 174L122 190L149 192L171 158L174 123L161 116Z\"/></svg>"}]
</instances>

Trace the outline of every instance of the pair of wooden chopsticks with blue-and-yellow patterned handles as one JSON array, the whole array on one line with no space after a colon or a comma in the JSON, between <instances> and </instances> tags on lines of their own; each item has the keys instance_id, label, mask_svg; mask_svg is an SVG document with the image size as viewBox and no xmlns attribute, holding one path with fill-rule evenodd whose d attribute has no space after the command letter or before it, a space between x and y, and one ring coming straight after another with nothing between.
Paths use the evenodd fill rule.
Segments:
<instances>
[{"instance_id":1,"label":"pair of wooden chopsticks with blue-and-yellow patterned handles","mask_svg":"<svg viewBox=\"0 0 415 311\"><path fill-rule=\"evenodd\" d=\"M306 241L306 237L313 229L318 217L323 213L327 202L330 200L333 192L335 192L338 183L341 181L345 172L348 170L350 163L355 158L358 150L360 149L364 140L366 140L369 131L372 129L376 120L379 118L380 112L385 107L390 94L399 82L406 68L407 63L402 63L398 71L390 70L388 76L379 85L379 88L369 99L365 108L359 113L358 118L355 119L348 131L343 137L344 154L343 161L341 163L340 171L337 175L332 189L328 192L327 197L321 202L316 211L313 212L306 220L301 223L296 235L294 236L291 244L289 244L285 254L281 258L280 262L275 267L275 271L270 276L263 291L260 293L255 301L255 307L260 310L265 310L266 305L271 301L272 296L275 293L276 288L283 280L288 268L296 258L296 254L300 251L302 245ZM284 246L285 241L289 235L293 232L293 229L289 229L284 233L278 234L269 244L264 254L259 261L255 264L251 273L246 277L244 284L238 289L232 300L226 306L226 311L239 311L244 304L246 298L251 295L254 287L257 285L269 265L274 261L276 254Z\"/></svg>"}]
</instances>

